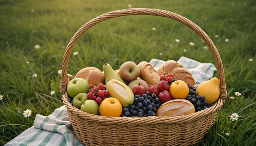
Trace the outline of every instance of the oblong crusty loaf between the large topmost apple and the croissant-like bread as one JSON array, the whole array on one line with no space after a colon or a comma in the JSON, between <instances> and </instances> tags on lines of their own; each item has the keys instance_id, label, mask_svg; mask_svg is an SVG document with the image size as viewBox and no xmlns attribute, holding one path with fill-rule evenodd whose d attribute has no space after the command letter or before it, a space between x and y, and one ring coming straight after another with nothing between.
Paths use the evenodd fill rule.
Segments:
<instances>
[{"instance_id":1,"label":"oblong crusty loaf between the large topmost apple and the croissant-like bread","mask_svg":"<svg viewBox=\"0 0 256 146\"><path fill-rule=\"evenodd\" d=\"M160 82L160 76L154 67L146 61L142 61L138 64L140 75L139 77L146 81L148 85L156 85Z\"/></svg>"}]
</instances>

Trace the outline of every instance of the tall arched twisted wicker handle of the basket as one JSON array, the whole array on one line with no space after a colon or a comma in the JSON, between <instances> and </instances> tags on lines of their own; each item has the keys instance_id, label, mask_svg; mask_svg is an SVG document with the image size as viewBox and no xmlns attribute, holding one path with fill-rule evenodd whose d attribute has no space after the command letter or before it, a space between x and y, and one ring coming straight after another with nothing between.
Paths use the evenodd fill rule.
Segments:
<instances>
[{"instance_id":1,"label":"tall arched twisted wicker handle of the basket","mask_svg":"<svg viewBox=\"0 0 256 146\"><path fill-rule=\"evenodd\" d=\"M108 20L110 18L120 17L120 16L126 16L126 15L155 15L155 16L162 16L166 18L171 18L173 20L176 20L178 22L181 22L188 26L189 28L193 29L196 33L200 35L200 37L204 40L204 42L207 43L209 48L211 49L211 53L213 54L213 57L216 62L219 79L220 79L220 97L226 98L227 97L227 91L226 91L226 85L225 85L225 76L224 76L224 69L222 65L222 61L220 58L220 54L218 50L216 49L216 46L213 44L212 40L209 38L209 36L195 23L191 22L189 19L184 18L181 15L178 15L176 13L166 11L166 10L160 10L160 9L146 9L146 8L137 8L137 9L123 9L123 10L117 10L112 11L109 13L105 13L103 15L98 16L97 18L94 18L84 24L71 38L69 44L67 45L67 48L65 50L64 56L63 56L63 62L62 62L62 73L61 73L61 84L60 84L60 91L61 93L65 93L67 91L67 83L68 83L68 77L67 77L67 66L68 61L72 52L72 49L76 43L76 41L79 39L79 37L88 29L93 27L94 25L98 24L99 22Z\"/></svg>"}]
</instances>

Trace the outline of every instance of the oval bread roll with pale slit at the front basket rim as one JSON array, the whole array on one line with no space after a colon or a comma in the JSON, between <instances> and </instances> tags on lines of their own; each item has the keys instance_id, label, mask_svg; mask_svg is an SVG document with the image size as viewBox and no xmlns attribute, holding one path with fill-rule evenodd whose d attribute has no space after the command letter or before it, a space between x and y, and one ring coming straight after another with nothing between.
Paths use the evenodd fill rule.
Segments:
<instances>
[{"instance_id":1,"label":"oval bread roll with pale slit at the front basket rim","mask_svg":"<svg viewBox=\"0 0 256 146\"><path fill-rule=\"evenodd\" d=\"M170 100L157 109L157 116L174 117L191 113L195 113L195 107L191 102L184 99Z\"/></svg>"}]
</instances>

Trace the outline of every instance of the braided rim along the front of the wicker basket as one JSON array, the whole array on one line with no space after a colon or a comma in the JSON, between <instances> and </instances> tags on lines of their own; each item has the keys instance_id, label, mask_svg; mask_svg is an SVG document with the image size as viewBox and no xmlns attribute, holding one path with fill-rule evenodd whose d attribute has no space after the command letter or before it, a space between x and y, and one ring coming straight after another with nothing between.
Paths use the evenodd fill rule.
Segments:
<instances>
[{"instance_id":1,"label":"braided rim along the front of the wicker basket","mask_svg":"<svg viewBox=\"0 0 256 146\"><path fill-rule=\"evenodd\" d=\"M67 100L68 94L67 92L62 95L63 103L65 104L66 108L71 112L73 115L76 115L76 117L79 117L80 119L86 119L90 122L98 122L100 124L173 124L173 123L187 123L191 121L197 121L197 119L200 119L201 117L210 115L212 113L217 112L223 103L225 102L224 99L218 98L218 101L211 107L204 109L202 111L198 111L195 113L191 113L189 115L180 115L180 116L174 116L174 117L158 117L158 116L148 116L148 117L106 117L101 115L93 115L90 113L86 113L84 111L81 111L79 108L76 108L71 105L70 102ZM147 119L145 121L145 119Z\"/></svg>"}]
</instances>

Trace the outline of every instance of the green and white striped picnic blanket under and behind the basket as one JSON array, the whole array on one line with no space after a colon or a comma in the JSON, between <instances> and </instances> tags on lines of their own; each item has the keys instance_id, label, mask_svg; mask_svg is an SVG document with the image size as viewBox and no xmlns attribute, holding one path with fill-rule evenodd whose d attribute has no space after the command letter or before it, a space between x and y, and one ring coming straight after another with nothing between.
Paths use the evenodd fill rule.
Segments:
<instances>
[{"instance_id":1,"label":"green and white striped picnic blanket under and behind the basket","mask_svg":"<svg viewBox=\"0 0 256 146\"><path fill-rule=\"evenodd\" d=\"M209 80L217 70L211 63L200 63L185 57L181 57L177 62L191 72L195 84ZM149 63L157 70L164 61L152 59ZM83 144L77 139L68 120L66 107L63 105L49 116L36 115L34 126L4 146L83 146Z\"/></svg>"}]
</instances>

